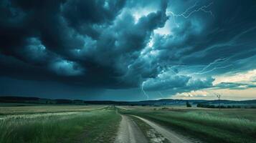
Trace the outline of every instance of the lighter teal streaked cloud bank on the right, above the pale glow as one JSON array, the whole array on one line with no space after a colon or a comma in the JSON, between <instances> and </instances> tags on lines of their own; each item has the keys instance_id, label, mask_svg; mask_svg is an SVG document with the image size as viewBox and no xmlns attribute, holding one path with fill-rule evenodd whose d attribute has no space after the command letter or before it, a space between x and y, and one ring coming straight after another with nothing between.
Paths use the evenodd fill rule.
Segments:
<instances>
[{"instance_id":1,"label":"lighter teal streaked cloud bank on the right, above the pale glow","mask_svg":"<svg viewBox=\"0 0 256 143\"><path fill-rule=\"evenodd\" d=\"M250 6L245 6L247 4ZM188 80L184 83L186 89L190 89L186 87L189 83L191 89L212 87L214 79L211 76L227 71L255 69L256 17L252 15L255 1L247 1L242 6L240 1L232 1L232 4L230 1L214 1L212 5L210 10L205 10L211 12L202 11L190 18L171 14L176 16L179 26L174 26L168 36L156 35L153 38L151 51L158 52L160 59L155 59L157 62L169 67L164 70L166 73L171 71L177 77L184 76L184 80L194 77L194 82ZM147 80L146 83L152 84L145 84L144 89L179 88L179 83L184 80L173 79L171 74L163 80L158 77Z\"/></svg>"}]
</instances>

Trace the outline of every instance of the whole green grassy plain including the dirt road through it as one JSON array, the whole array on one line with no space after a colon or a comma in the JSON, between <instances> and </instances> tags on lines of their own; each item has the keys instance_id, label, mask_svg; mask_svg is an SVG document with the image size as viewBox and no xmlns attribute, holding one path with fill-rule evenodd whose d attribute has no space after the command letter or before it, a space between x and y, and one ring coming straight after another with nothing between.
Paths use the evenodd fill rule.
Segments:
<instances>
[{"instance_id":1,"label":"whole green grassy plain including the dirt road through it","mask_svg":"<svg viewBox=\"0 0 256 143\"><path fill-rule=\"evenodd\" d=\"M0 142L253 143L255 112L185 106L5 106L0 107Z\"/></svg>"}]
</instances>

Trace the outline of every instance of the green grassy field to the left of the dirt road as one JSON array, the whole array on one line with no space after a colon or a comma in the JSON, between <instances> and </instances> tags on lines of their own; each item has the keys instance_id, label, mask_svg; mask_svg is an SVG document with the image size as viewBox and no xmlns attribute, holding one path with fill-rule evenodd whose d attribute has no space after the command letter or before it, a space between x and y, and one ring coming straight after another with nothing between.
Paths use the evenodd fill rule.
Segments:
<instances>
[{"instance_id":1,"label":"green grassy field to the left of the dirt road","mask_svg":"<svg viewBox=\"0 0 256 143\"><path fill-rule=\"evenodd\" d=\"M0 142L113 142L114 107L0 107Z\"/></svg>"}]
</instances>

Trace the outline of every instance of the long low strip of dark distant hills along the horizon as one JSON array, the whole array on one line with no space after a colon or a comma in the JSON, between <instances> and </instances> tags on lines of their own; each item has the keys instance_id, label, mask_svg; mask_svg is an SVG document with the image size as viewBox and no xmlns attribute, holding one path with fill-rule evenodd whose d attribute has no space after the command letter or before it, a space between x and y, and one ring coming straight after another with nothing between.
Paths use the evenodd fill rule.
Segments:
<instances>
[{"instance_id":1,"label":"long low strip of dark distant hills along the horizon","mask_svg":"<svg viewBox=\"0 0 256 143\"><path fill-rule=\"evenodd\" d=\"M192 105L196 104L241 104L241 105L255 105L254 100L202 100L202 99L159 99L159 100L145 100L139 102L116 102L116 101L84 101L80 99L41 99L38 97L0 97L0 103L23 103L23 104L115 104L115 105L131 105L131 106L164 106L164 105L176 105L183 106L189 102Z\"/></svg>"}]
</instances>

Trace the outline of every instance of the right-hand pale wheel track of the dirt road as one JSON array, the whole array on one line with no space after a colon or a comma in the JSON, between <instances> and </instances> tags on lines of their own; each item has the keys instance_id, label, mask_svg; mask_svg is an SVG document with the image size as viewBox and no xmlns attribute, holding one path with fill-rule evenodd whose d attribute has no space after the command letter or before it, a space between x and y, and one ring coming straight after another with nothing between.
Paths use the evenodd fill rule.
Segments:
<instances>
[{"instance_id":1,"label":"right-hand pale wheel track of the dirt road","mask_svg":"<svg viewBox=\"0 0 256 143\"><path fill-rule=\"evenodd\" d=\"M158 132L159 134L163 135L163 137L165 137L166 139L168 139L170 142L174 142L174 143L192 143L194 141L192 141L191 139L188 139L184 136L182 136L181 134L177 134L176 132L172 132L169 129L165 129L164 127L161 127L160 125L149 121L148 119L144 119L138 116L134 116L137 117L138 119L141 119L143 122L146 122L146 124L149 124L153 129L156 130L156 132ZM198 141L196 141L198 142Z\"/></svg>"}]
</instances>

